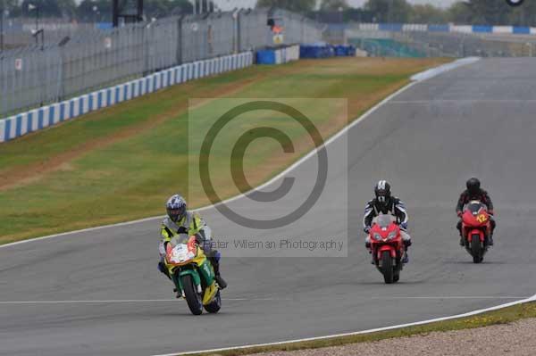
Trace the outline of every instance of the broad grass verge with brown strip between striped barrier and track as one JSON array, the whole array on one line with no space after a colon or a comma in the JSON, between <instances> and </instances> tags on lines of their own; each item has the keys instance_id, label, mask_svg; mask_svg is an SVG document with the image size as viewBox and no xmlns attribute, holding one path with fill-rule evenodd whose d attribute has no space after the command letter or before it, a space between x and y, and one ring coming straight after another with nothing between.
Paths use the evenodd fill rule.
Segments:
<instances>
[{"instance_id":1,"label":"broad grass verge with brown strip between striped barrier and track","mask_svg":"<svg viewBox=\"0 0 536 356\"><path fill-rule=\"evenodd\" d=\"M198 181L188 184L188 164L196 157L191 147L188 151L188 140L200 142L198 132L203 130L196 127L209 127L215 120L210 113L220 103L206 99L196 109L196 120L188 121L189 98L306 97L301 105L315 126L326 128L325 138L348 122L336 120L311 98L345 98L348 117L356 118L406 85L415 72L442 62L446 60L364 58L255 66L170 87L0 145L0 244L160 215L166 197L175 192L187 195L191 206L208 203L198 194ZM273 115L257 115L240 128L268 121L288 128L288 120ZM295 128L290 131L293 141L305 136ZM252 186L312 148L299 145L295 154L278 161L281 147L263 143L247 151ZM230 141L222 145L230 146ZM261 164L266 161L272 163ZM229 164L215 167L229 170ZM229 175L215 184L222 187L222 198L237 193Z\"/></svg>"}]
</instances>

